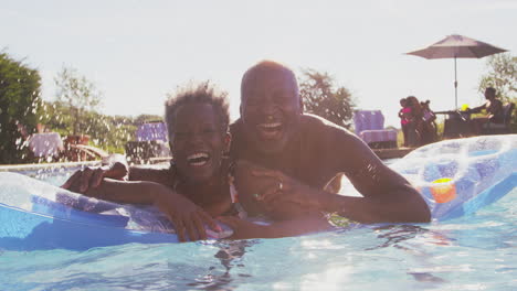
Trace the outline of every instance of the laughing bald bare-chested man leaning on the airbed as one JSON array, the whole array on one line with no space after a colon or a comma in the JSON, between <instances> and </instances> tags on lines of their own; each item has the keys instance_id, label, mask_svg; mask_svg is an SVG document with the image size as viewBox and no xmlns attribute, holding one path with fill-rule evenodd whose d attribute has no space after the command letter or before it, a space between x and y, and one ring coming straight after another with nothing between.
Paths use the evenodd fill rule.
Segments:
<instances>
[{"instance_id":1,"label":"laughing bald bare-chested man leaning on the airbed","mask_svg":"<svg viewBox=\"0 0 517 291\"><path fill-rule=\"evenodd\" d=\"M247 171L241 172L247 176L240 181L262 176L278 182L255 193L255 200L244 200L251 213L260 213L262 203L278 207L296 203L362 223L430 220L418 191L386 166L366 143L345 128L303 114L296 77L278 63L264 61L244 74L241 118L231 126L231 157L261 166L246 163ZM340 173L363 197L324 191Z\"/></svg>"}]
</instances>

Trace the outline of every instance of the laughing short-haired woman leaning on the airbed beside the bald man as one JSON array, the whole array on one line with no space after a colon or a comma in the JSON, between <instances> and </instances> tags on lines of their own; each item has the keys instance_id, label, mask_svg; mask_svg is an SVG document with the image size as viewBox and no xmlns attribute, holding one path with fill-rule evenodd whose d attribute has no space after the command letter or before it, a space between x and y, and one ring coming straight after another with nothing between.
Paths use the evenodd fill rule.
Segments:
<instances>
[{"instance_id":1,"label":"laughing short-haired woman leaning on the airbed beside the bald man","mask_svg":"<svg viewBox=\"0 0 517 291\"><path fill-rule=\"evenodd\" d=\"M180 240L186 240L187 235L190 240L207 238L204 226L219 229L213 217L233 211L229 162L223 159L230 143L225 97L208 82L178 90L166 103L173 157L170 166L135 182L104 181L85 194L152 204L173 223ZM76 188L75 182L67 184Z\"/></svg>"}]
</instances>

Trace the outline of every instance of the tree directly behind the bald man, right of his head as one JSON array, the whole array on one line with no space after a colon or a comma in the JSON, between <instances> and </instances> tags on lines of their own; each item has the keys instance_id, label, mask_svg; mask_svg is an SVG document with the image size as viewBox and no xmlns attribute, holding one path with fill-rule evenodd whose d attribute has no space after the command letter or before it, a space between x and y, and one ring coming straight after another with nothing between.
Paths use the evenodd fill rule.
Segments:
<instances>
[{"instance_id":1,"label":"tree directly behind the bald man, right of his head","mask_svg":"<svg viewBox=\"0 0 517 291\"><path fill-rule=\"evenodd\" d=\"M355 107L352 96L347 88L336 87L335 79L327 73L303 69L299 94L306 112L350 128Z\"/></svg>"}]
</instances>

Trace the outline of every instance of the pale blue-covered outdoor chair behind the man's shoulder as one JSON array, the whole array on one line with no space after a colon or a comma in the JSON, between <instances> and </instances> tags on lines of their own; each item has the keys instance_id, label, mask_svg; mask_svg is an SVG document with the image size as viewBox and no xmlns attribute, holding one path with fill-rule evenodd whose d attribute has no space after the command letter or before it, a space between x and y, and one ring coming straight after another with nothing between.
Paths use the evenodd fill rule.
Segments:
<instances>
[{"instance_id":1,"label":"pale blue-covered outdoor chair behind the man's shoulder","mask_svg":"<svg viewBox=\"0 0 517 291\"><path fill-rule=\"evenodd\" d=\"M356 134L370 148L397 148L397 131L384 129L384 116L381 110L356 110L354 123Z\"/></svg>"}]
</instances>

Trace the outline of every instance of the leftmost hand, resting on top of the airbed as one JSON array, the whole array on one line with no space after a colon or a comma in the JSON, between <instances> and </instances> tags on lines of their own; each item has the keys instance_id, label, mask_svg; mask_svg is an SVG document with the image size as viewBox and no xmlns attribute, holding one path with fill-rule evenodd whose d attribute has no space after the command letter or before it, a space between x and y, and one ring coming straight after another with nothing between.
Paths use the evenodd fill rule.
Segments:
<instances>
[{"instance_id":1,"label":"leftmost hand, resting on top of the airbed","mask_svg":"<svg viewBox=\"0 0 517 291\"><path fill-rule=\"evenodd\" d=\"M109 165L78 170L61 186L76 193L86 193L88 188L97 187L104 177L123 180L128 173L127 165L114 162Z\"/></svg>"}]
</instances>

